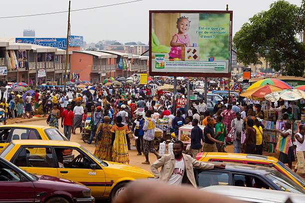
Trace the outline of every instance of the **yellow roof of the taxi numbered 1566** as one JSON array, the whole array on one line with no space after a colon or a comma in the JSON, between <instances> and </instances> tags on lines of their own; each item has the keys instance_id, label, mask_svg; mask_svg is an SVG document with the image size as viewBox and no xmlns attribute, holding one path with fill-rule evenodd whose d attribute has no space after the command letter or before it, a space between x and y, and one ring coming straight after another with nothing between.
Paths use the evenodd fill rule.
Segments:
<instances>
[{"instance_id":1,"label":"yellow roof of the taxi numbered 1566","mask_svg":"<svg viewBox=\"0 0 305 203\"><path fill-rule=\"evenodd\" d=\"M76 142L63 140L12 140L14 145L38 145L38 146L65 146L65 147L80 147Z\"/></svg>"}]
</instances>

